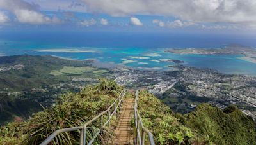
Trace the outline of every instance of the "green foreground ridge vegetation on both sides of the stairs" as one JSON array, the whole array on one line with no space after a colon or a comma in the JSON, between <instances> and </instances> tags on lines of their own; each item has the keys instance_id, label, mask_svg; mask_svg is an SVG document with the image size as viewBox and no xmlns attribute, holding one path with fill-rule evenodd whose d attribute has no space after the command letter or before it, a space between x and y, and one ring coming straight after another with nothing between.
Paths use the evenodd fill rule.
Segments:
<instances>
[{"instance_id":1,"label":"green foreground ridge vegetation on both sides of the stairs","mask_svg":"<svg viewBox=\"0 0 256 145\"><path fill-rule=\"evenodd\" d=\"M34 114L28 121L1 127L0 144L38 144L54 130L83 125L107 109L121 91L122 87L115 81L102 79L99 84L88 85L81 92L68 93L56 106ZM127 95L134 97L129 92ZM141 90L138 110L156 144L256 144L255 122L235 106L222 111L201 104L191 113L175 114L157 97ZM93 125L86 134L93 134L93 128L100 128L100 135L113 135L109 128L101 128L100 122ZM78 141L78 131L54 139L56 144L77 144ZM97 144L101 144L100 140Z\"/></svg>"}]
</instances>

